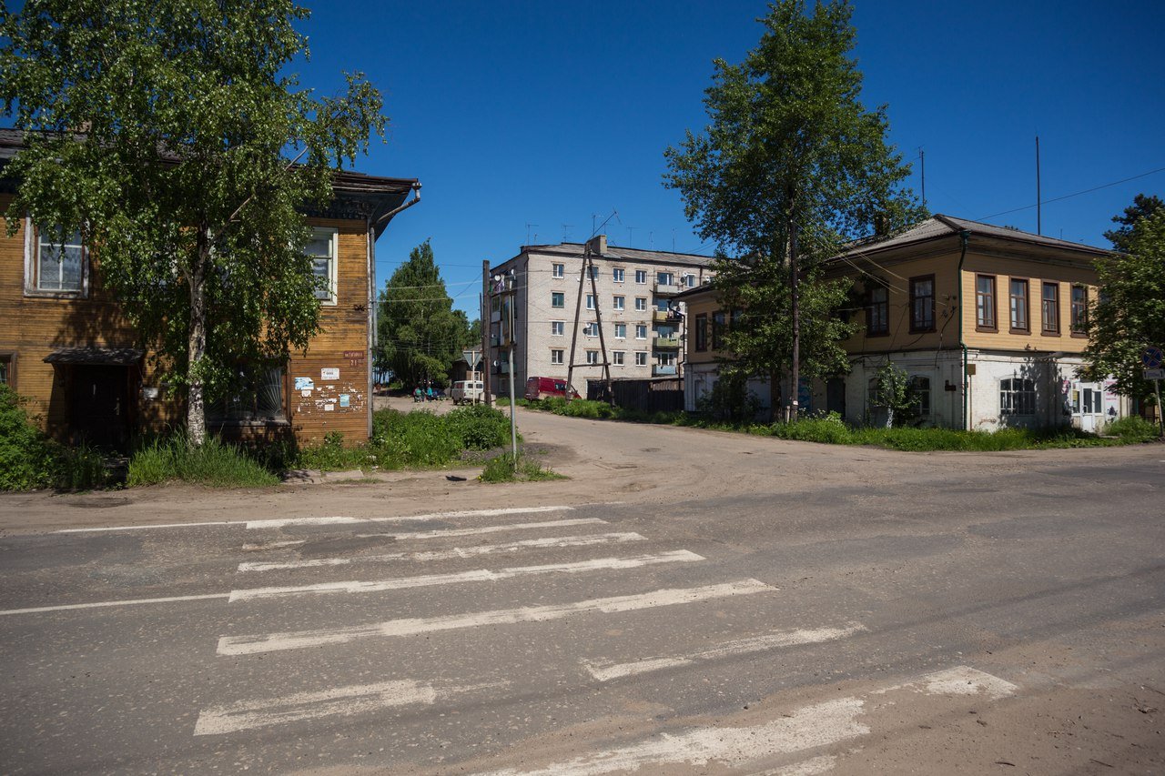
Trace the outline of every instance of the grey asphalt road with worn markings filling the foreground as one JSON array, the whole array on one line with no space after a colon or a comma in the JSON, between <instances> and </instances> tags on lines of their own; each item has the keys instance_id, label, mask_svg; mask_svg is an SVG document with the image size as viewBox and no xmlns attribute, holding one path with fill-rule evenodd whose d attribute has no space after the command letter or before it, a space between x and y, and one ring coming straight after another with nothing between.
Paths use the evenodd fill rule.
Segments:
<instances>
[{"instance_id":1,"label":"grey asphalt road with worn markings filling the foreground","mask_svg":"<svg viewBox=\"0 0 1165 776\"><path fill-rule=\"evenodd\" d=\"M617 487L5 535L0 771L1165 771L1165 447L527 428Z\"/></svg>"}]
</instances>

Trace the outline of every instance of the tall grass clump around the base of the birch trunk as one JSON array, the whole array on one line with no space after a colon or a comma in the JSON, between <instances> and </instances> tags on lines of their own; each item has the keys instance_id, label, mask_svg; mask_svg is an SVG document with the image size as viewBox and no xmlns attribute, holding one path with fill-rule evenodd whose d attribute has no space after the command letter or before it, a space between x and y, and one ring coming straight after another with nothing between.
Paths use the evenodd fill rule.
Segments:
<instances>
[{"instance_id":1,"label":"tall grass clump around the base of the birch trunk","mask_svg":"<svg viewBox=\"0 0 1165 776\"><path fill-rule=\"evenodd\" d=\"M129 458L127 486L163 482L248 488L278 485L280 478L239 445L210 437L196 446L185 435L175 435L146 444Z\"/></svg>"}]
</instances>

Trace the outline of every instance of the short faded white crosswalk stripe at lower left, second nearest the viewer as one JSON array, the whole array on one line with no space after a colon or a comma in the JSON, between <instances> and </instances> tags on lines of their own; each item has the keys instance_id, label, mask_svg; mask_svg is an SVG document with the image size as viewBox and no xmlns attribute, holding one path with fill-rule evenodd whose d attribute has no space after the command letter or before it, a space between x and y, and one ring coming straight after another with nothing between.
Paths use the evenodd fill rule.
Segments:
<instances>
[{"instance_id":1,"label":"short faded white crosswalk stripe at lower left, second nearest the viewer","mask_svg":"<svg viewBox=\"0 0 1165 776\"><path fill-rule=\"evenodd\" d=\"M438 694L466 692L485 686L437 689L415 680L380 682L333 687L322 692L297 692L281 698L245 700L204 708L195 724L195 735L221 735L257 727L285 725L320 717L351 715L390 706L430 705Z\"/></svg>"}]
</instances>

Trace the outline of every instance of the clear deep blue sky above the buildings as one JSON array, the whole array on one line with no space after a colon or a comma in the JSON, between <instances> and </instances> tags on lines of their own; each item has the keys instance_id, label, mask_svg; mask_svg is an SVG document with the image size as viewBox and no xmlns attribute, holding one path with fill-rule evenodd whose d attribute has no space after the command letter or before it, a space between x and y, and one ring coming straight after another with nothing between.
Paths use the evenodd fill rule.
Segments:
<instances>
[{"instance_id":1,"label":"clear deep blue sky above the buildings","mask_svg":"<svg viewBox=\"0 0 1165 776\"><path fill-rule=\"evenodd\" d=\"M376 245L381 285L430 238L475 317L482 259L585 240L615 211L615 245L713 251L663 188L663 150L706 125L712 59L743 58L764 2L306 1L301 80L326 93L366 72L390 127L358 169L424 185ZM1035 232L1037 134L1045 234L1104 246L1134 195L1165 196L1165 3L854 5L862 99L889 106L916 193L925 150L932 212Z\"/></svg>"}]
</instances>

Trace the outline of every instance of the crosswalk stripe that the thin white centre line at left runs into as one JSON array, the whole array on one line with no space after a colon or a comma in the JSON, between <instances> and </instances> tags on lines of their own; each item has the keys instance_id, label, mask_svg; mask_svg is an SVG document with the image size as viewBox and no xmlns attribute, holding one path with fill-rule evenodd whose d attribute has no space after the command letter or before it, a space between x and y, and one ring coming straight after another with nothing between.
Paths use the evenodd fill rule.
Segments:
<instances>
[{"instance_id":1,"label":"crosswalk stripe that the thin white centre line at left runs into","mask_svg":"<svg viewBox=\"0 0 1165 776\"><path fill-rule=\"evenodd\" d=\"M584 573L587 571L603 571L609 569L638 569L661 563L692 563L704 560L704 556L689 552L687 550L675 550L672 552L659 552L657 555L637 555L629 558L595 558L593 560L577 560L574 563L549 563L537 566L511 566L509 569L473 569L471 571L459 571L449 574L424 574L421 577L397 577L395 579L376 580L346 580L334 583L319 583L317 585L296 585L291 587L249 587L245 590L231 591L231 602L246 601L255 598L282 598L285 595L325 594L325 593L381 593L389 590L407 590L409 587L431 587L436 585L459 585L475 581L500 581L513 579L514 577L529 577L534 574L555 573Z\"/></svg>"}]
</instances>

